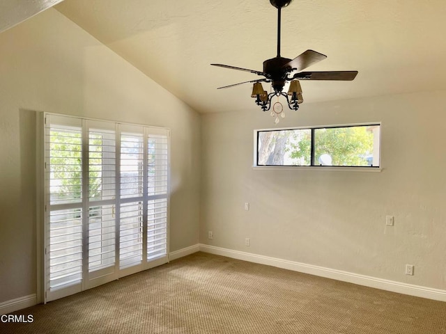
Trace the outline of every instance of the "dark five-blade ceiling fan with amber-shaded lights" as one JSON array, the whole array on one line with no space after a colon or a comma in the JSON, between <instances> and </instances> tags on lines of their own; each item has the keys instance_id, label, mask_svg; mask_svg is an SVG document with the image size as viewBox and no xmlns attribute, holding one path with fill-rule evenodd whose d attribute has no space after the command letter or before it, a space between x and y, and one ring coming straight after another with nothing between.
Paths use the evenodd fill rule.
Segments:
<instances>
[{"instance_id":1,"label":"dark five-blade ceiling fan with amber-shaded lights","mask_svg":"<svg viewBox=\"0 0 446 334\"><path fill-rule=\"evenodd\" d=\"M355 79L357 71L324 71L324 72L300 72L305 68L318 63L323 59L327 58L325 54L320 54L319 52L313 50L307 50L295 57L294 59L284 58L280 56L280 21L281 21L281 10L282 8L288 6L293 0L270 0L272 6L277 8L277 56L275 58L268 59L263 62L263 72L256 70L248 70L246 68L234 67L230 65L223 64L210 64L213 66L230 68L232 70L239 70L245 72L251 72L259 76L264 77L263 79L255 79L251 81L244 81L238 84L233 84L229 86L219 87L217 89L229 88L233 86L238 86L241 84L252 84L254 83L252 89L252 97L256 98L256 104L261 106L263 111L270 110L271 108L271 98L274 96L284 96L288 102L290 109L298 110L299 104L303 102L302 98L302 88L300 87L299 80L337 80L337 81L351 81ZM298 71L297 73L293 73ZM291 81L288 93L284 93L284 86L286 82ZM268 93L263 90L261 82L271 83L274 92ZM289 96L291 98L289 98ZM273 104L272 116L278 116L283 113L283 106L279 102ZM279 118L276 118L276 122Z\"/></svg>"}]
</instances>

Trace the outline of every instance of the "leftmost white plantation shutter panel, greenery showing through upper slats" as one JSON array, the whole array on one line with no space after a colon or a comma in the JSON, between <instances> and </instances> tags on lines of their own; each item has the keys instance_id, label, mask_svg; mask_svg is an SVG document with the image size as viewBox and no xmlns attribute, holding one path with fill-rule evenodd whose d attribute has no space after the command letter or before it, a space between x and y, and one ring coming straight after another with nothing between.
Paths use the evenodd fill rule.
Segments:
<instances>
[{"instance_id":1,"label":"leftmost white plantation shutter panel, greenery showing through upper slats","mask_svg":"<svg viewBox=\"0 0 446 334\"><path fill-rule=\"evenodd\" d=\"M68 294L82 290L82 147L82 120L47 118L45 280L54 299L60 290Z\"/></svg>"}]
</instances>

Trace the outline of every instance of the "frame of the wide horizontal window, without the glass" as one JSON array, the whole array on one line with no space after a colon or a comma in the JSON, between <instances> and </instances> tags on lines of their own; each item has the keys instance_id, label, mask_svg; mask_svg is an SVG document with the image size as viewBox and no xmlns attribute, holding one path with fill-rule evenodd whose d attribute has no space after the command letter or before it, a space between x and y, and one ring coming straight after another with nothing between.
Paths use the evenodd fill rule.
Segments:
<instances>
[{"instance_id":1,"label":"frame of the wide horizontal window, without the glass","mask_svg":"<svg viewBox=\"0 0 446 334\"><path fill-rule=\"evenodd\" d=\"M379 127L379 166L323 166L320 164L314 164L315 161L315 137L314 134L317 129L339 129L346 127L369 127L378 126ZM294 166L294 165L259 165L259 135L261 132L277 132L286 130L310 130L311 131L311 148L310 148L310 165L308 166ZM383 164L381 160L381 133L382 124L381 122L364 122L364 123L351 123L351 124L339 124L339 125L314 125L311 127L281 127L272 129L254 129L254 161L253 169L268 170L277 169L282 170L348 170L348 171L367 171L367 172L380 172L383 169Z\"/></svg>"}]
</instances>

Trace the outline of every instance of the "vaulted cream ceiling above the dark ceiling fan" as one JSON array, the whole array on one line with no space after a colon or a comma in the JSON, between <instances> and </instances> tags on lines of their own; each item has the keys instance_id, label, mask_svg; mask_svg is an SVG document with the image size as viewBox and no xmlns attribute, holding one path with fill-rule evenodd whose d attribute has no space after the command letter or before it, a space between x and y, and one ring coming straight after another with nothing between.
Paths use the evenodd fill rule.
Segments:
<instances>
[{"instance_id":1,"label":"vaulted cream ceiling above the dark ceiling fan","mask_svg":"<svg viewBox=\"0 0 446 334\"><path fill-rule=\"evenodd\" d=\"M161 86L205 112L258 109L245 84L276 55L269 0L65 0L56 6ZM314 49L307 70L358 70L354 81L304 81L305 103L446 89L444 0L294 0L282 10L282 56Z\"/></svg>"}]
</instances>

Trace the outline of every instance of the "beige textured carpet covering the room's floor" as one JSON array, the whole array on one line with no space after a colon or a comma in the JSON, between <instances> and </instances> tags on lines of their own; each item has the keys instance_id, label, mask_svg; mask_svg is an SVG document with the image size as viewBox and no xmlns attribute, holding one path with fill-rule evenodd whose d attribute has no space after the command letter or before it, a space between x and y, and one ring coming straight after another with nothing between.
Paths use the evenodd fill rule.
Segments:
<instances>
[{"instance_id":1,"label":"beige textured carpet covering the room's floor","mask_svg":"<svg viewBox=\"0 0 446 334\"><path fill-rule=\"evenodd\" d=\"M206 253L15 315L0 333L446 334L446 303Z\"/></svg>"}]
</instances>

